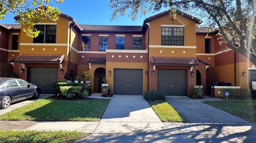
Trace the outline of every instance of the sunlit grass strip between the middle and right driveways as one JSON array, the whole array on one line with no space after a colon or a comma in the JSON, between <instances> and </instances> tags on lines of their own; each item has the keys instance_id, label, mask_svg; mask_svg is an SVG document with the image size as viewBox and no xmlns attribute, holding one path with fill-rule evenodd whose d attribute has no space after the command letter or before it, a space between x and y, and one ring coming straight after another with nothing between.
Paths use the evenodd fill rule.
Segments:
<instances>
[{"instance_id":1,"label":"sunlit grass strip between the middle and right driveways","mask_svg":"<svg viewBox=\"0 0 256 143\"><path fill-rule=\"evenodd\" d=\"M157 116L163 122L186 122L185 117L181 116L170 104L164 100L149 102Z\"/></svg>"}]
</instances>

